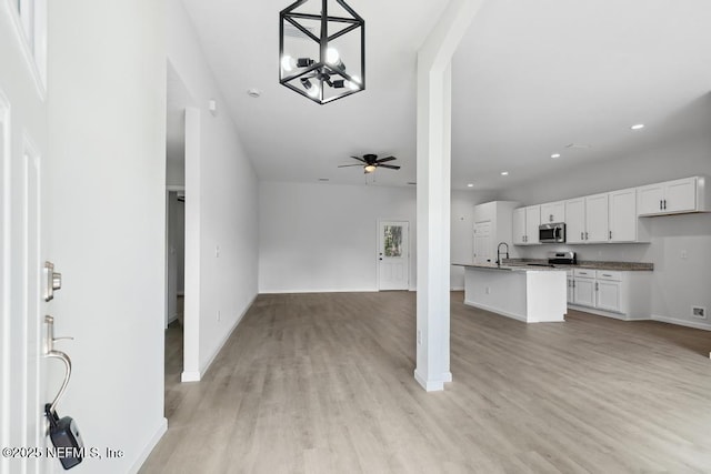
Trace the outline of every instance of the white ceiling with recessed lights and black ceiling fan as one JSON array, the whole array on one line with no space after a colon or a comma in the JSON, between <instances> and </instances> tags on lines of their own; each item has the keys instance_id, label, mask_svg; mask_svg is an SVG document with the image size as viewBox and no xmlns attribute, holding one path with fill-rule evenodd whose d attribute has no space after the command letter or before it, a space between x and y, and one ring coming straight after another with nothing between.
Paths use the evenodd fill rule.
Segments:
<instances>
[{"instance_id":1,"label":"white ceiling with recessed lights and black ceiling fan","mask_svg":"<svg viewBox=\"0 0 711 474\"><path fill-rule=\"evenodd\" d=\"M183 3L260 179L363 183L337 167L377 153L402 169L369 182L417 181L417 50L445 0L350 0L365 20L367 90L326 105L279 84L290 1ZM452 186L502 190L708 133L710 18L708 0L484 0L452 62Z\"/></svg>"}]
</instances>

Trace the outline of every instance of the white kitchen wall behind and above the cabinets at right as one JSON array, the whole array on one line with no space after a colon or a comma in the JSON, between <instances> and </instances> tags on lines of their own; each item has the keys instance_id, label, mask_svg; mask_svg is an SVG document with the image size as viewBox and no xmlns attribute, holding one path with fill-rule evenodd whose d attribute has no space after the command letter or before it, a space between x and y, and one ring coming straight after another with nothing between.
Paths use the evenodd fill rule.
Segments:
<instances>
[{"instance_id":1,"label":"white kitchen wall behind and above the cabinets at right","mask_svg":"<svg viewBox=\"0 0 711 474\"><path fill-rule=\"evenodd\" d=\"M708 101L702 104L708 107ZM505 199L538 204L597 192L613 191L692 175L711 175L711 135L680 137L644 153L579 167L505 193ZM682 321L711 329L711 320L695 320L690 307L711 307L711 213L643 219L651 243L520 246L528 258L544 258L549 250L573 250L581 260L651 262L652 313L657 319ZM687 250L689 258L681 259Z\"/></svg>"}]
</instances>

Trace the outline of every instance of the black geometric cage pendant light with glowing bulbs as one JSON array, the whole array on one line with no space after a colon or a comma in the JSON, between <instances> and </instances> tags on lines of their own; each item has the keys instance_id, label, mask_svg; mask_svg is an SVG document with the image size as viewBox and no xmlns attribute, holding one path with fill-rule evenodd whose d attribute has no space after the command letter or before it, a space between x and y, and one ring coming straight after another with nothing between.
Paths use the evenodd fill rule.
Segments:
<instances>
[{"instance_id":1,"label":"black geometric cage pendant light with glowing bulbs","mask_svg":"<svg viewBox=\"0 0 711 474\"><path fill-rule=\"evenodd\" d=\"M279 13L279 82L324 104L365 89L365 21L343 0Z\"/></svg>"}]
</instances>

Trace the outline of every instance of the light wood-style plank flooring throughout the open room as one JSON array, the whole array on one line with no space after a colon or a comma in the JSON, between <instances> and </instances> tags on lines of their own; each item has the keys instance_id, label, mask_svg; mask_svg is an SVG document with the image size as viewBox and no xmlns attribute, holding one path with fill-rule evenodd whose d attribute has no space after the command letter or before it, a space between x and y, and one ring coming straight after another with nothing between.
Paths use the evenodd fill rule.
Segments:
<instances>
[{"instance_id":1,"label":"light wood-style plank flooring throughout the open room","mask_svg":"<svg viewBox=\"0 0 711 474\"><path fill-rule=\"evenodd\" d=\"M711 333L452 293L443 392L413 379L414 293L260 295L200 383L167 343L143 473L711 473Z\"/></svg>"}]
</instances>

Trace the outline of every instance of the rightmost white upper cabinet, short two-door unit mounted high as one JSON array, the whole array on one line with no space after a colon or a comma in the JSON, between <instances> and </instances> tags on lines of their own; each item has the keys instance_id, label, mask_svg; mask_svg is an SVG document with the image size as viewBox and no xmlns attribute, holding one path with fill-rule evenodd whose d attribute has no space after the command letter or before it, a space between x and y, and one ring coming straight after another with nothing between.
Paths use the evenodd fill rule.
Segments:
<instances>
[{"instance_id":1,"label":"rightmost white upper cabinet, short two-door unit mounted high","mask_svg":"<svg viewBox=\"0 0 711 474\"><path fill-rule=\"evenodd\" d=\"M702 177L684 178L638 188L639 215L664 215L710 210L711 195Z\"/></svg>"}]
</instances>

